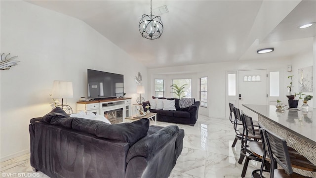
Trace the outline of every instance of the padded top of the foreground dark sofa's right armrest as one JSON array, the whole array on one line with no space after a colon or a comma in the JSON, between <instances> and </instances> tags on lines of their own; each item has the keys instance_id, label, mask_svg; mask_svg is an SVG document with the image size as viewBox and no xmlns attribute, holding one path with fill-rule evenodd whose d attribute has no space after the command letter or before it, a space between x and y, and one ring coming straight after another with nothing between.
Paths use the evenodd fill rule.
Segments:
<instances>
[{"instance_id":1,"label":"padded top of the foreground dark sofa's right armrest","mask_svg":"<svg viewBox=\"0 0 316 178\"><path fill-rule=\"evenodd\" d=\"M128 150L126 162L135 156L148 158L155 150L164 145L171 137L179 132L178 126L167 126L154 134L150 134L139 140Z\"/></svg>"}]
</instances>

